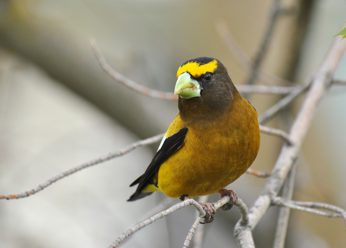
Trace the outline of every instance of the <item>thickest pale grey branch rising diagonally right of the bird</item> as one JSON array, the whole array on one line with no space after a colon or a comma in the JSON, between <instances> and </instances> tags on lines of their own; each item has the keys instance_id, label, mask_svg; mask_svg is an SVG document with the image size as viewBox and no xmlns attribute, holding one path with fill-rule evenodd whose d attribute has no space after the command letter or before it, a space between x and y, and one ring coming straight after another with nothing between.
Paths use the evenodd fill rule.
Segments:
<instances>
[{"instance_id":1,"label":"thickest pale grey branch rising diagonally right of the bird","mask_svg":"<svg viewBox=\"0 0 346 248\"><path fill-rule=\"evenodd\" d=\"M254 247L246 245L248 243L244 239L253 240L252 230L267 212L272 199L280 191L287 174L297 159L313 114L316 111L319 101L332 82L332 76L345 52L345 48L346 42L334 40L322 61L321 66L318 68L317 73L311 82L306 99L304 100L289 133L293 144L285 144L282 147L279 158L277 159L272 171L273 176L268 179L262 193L258 196L254 205L249 210L248 224L244 225L240 222L236 224L235 233L240 247Z\"/></svg>"}]
</instances>

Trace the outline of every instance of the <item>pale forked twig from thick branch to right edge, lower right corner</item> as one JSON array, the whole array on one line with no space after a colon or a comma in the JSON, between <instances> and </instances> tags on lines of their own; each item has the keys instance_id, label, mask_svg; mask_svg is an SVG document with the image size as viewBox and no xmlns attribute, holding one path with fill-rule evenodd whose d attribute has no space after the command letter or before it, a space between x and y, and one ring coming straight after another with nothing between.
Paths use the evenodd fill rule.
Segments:
<instances>
[{"instance_id":1,"label":"pale forked twig from thick branch to right edge, lower right corner","mask_svg":"<svg viewBox=\"0 0 346 248\"><path fill-rule=\"evenodd\" d=\"M290 201L290 200L282 199L281 197L274 197L272 199L272 204L275 204L278 206L285 206L287 208L296 209L296 210L313 213L317 215L322 215L328 218L342 217L345 221L345 226L346 226L346 210L339 208L338 206L328 204L328 203ZM333 211L336 213L324 212L324 211L316 210L315 208L325 209L325 210Z\"/></svg>"}]
</instances>

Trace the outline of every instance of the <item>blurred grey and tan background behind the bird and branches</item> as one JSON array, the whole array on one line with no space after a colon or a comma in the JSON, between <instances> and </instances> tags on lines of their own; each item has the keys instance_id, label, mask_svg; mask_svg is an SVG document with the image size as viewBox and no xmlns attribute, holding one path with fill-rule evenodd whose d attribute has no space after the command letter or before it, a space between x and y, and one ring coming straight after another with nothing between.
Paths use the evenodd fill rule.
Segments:
<instances>
[{"instance_id":1,"label":"blurred grey and tan background behind the bird and branches","mask_svg":"<svg viewBox=\"0 0 346 248\"><path fill-rule=\"evenodd\" d=\"M165 132L175 117L176 102L140 95L104 73L89 37L116 71L156 90L173 91L179 65L198 56L220 59L240 85L248 81L249 71L228 50L218 27L226 25L243 53L254 59L272 3L1 0L0 193L32 189L71 167ZM331 37L341 29L346 2L283 0L280 5L288 13L275 23L261 70L300 84L317 70ZM345 56L335 77L346 80ZM259 115L279 99L267 94L247 98ZM289 130L302 100L266 125ZM345 104L345 86L332 86L321 101L298 161L294 200L346 208ZM281 145L278 138L261 134L252 168L271 171ZM155 193L126 202L135 190L128 185L145 171L157 146L85 169L29 198L2 200L1 247L109 246L166 199ZM251 206L265 182L246 174L230 187ZM215 194L210 200L218 198ZM277 210L270 208L255 228L256 247L272 246ZM195 216L194 208L182 209L122 246L181 247ZM233 228L239 217L237 208L217 211L204 227L203 247L215 242L236 247ZM291 211L286 247L345 244L342 219Z\"/></svg>"}]
</instances>

